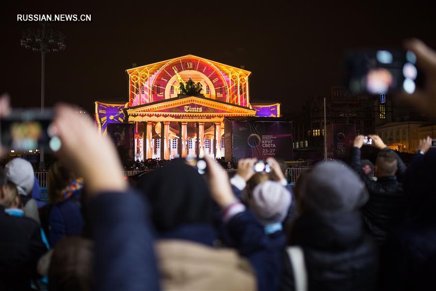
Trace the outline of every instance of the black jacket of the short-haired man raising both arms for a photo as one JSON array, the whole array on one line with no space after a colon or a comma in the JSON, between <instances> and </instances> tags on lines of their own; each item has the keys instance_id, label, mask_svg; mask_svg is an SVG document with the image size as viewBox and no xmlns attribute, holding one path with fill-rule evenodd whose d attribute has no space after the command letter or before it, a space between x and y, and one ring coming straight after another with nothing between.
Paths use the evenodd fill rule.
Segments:
<instances>
[{"instance_id":1,"label":"black jacket of the short-haired man raising both arms for a photo","mask_svg":"<svg viewBox=\"0 0 436 291\"><path fill-rule=\"evenodd\" d=\"M383 151L391 151L388 148ZM351 166L359 174L369 192L369 200L362 207L365 225L379 245L383 245L388 232L404 222L407 215L406 197L403 185L406 166L397 155L398 171L396 176L371 180L363 171L360 162L360 149L354 147Z\"/></svg>"}]
</instances>

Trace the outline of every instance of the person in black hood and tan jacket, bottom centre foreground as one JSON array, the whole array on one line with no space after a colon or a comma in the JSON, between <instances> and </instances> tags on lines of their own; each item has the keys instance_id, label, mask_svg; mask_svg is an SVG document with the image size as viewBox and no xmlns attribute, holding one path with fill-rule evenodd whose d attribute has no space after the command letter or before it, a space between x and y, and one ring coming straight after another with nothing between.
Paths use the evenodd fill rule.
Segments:
<instances>
[{"instance_id":1,"label":"person in black hood and tan jacket, bottom centre foreground","mask_svg":"<svg viewBox=\"0 0 436 291\"><path fill-rule=\"evenodd\" d=\"M232 249L216 247L214 203L194 167L173 160L146 173L138 188L151 206L164 290L256 289L249 262Z\"/></svg>"}]
</instances>

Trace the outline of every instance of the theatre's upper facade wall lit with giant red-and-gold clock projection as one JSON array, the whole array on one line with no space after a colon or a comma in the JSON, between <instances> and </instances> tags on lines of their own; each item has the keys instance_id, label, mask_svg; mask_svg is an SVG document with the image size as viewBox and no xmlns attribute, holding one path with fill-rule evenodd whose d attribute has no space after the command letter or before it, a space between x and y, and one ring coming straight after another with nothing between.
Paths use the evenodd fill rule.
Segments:
<instances>
[{"instance_id":1,"label":"theatre's upper facade wall lit with giant red-and-gold clock projection","mask_svg":"<svg viewBox=\"0 0 436 291\"><path fill-rule=\"evenodd\" d=\"M185 56L166 64L139 67L130 75L130 106L176 98L180 82L200 83L204 97L242 106L248 105L247 76L236 68L212 64L195 56Z\"/></svg>"}]
</instances>

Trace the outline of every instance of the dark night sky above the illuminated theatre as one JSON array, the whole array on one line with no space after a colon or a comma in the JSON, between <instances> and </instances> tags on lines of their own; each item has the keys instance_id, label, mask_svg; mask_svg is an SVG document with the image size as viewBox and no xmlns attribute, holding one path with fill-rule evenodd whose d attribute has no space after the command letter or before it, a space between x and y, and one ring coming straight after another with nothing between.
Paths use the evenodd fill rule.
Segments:
<instances>
[{"instance_id":1,"label":"dark night sky above the illuminated theatre","mask_svg":"<svg viewBox=\"0 0 436 291\"><path fill-rule=\"evenodd\" d=\"M281 102L291 112L342 85L347 49L399 47L412 36L436 48L435 1L12 2L1 1L0 91L17 107L40 105L41 56L19 43L21 31L39 23L17 22L16 14L92 15L92 22L51 22L66 49L46 58L46 105L77 103L91 113L96 100L128 101L132 63L194 54L244 65L253 72L252 101Z\"/></svg>"}]
</instances>

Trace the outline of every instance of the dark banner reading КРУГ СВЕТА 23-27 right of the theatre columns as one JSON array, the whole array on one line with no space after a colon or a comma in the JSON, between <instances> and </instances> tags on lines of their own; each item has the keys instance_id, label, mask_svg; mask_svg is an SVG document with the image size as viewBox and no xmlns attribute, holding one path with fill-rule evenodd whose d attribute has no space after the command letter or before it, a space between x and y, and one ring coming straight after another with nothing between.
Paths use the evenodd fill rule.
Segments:
<instances>
[{"instance_id":1,"label":"dark banner reading \u041a\u0420\u0423\u0413 \u0421\u0412\u0415\u0422\u0410 23-27 right of the theatre columns","mask_svg":"<svg viewBox=\"0 0 436 291\"><path fill-rule=\"evenodd\" d=\"M232 121L232 159L293 159L291 121Z\"/></svg>"}]
</instances>

